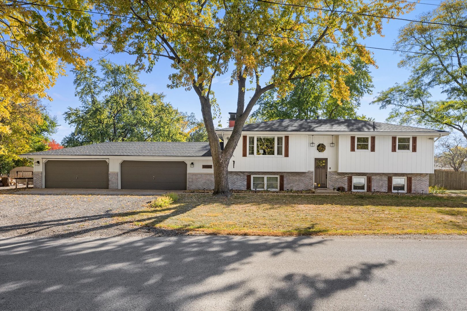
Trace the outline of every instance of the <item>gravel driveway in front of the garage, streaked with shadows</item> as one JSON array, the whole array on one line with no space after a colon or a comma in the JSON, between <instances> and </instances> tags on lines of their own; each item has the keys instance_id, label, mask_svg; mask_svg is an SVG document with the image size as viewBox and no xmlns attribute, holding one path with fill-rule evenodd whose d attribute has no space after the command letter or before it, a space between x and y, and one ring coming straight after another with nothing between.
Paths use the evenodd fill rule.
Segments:
<instances>
[{"instance_id":1,"label":"gravel driveway in front of the garage, streaked with shadows","mask_svg":"<svg viewBox=\"0 0 467 311\"><path fill-rule=\"evenodd\" d=\"M173 231L115 223L154 196L0 194L0 237L175 235Z\"/></svg>"}]
</instances>

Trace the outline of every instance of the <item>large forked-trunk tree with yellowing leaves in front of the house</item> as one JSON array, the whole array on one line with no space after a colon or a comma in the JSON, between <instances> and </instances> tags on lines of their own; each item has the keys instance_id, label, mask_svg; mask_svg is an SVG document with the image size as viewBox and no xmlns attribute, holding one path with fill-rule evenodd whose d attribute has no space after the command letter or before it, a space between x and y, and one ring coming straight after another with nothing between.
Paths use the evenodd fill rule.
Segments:
<instances>
[{"instance_id":1,"label":"large forked-trunk tree with yellowing leaves in front of the house","mask_svg":"<svg viewBox=\"0 0 467 311\"><path fill-rule=\"evenodd\" d=\"M358 43L381 35L384 19L374 14L397 16L415 6L393 0L97 2L97 9L111 14L99 26L103 41L114 52L136 55L137 63L149 70L165 59L173 68L169 87L196 92L211 147L214 194L226 196L230 196L229 161L262 94L277 88L283 96L293 88L293 81L325 74L333 97L347 100L345 78L353 71L346 60L360 57L374 63L371 53ZM219 75L231 76L238 90L237 119L223 150L212 120L212 81Z\"/></svg>"}]
</instances>

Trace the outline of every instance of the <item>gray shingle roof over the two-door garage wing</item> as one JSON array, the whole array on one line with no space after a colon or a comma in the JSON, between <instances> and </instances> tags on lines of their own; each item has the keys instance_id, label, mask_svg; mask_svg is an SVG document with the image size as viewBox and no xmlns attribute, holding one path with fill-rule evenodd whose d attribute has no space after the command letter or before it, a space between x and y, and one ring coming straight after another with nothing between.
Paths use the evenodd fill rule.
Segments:
<instances>
[{"instance_id":1,"label":"gray shingle roof over the two-door garage wing","mask_svg":"<svg viewBox=\"0 0 467 311\"><path fill-rule=\"evenodd\" d=\"M22 155L210 157L211 150L209 143L125 141L31 152Z\"/></svg>"}]
</instances>

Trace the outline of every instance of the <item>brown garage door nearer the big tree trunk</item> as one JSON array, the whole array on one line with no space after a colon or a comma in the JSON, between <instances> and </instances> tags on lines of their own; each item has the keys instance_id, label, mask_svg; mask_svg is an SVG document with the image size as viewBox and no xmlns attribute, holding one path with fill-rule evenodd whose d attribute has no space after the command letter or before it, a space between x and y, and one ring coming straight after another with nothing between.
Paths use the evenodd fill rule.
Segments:
<instances>
[{"instance_id":1,"label":"brown garage door nearer the big tree trunk","mask_svg":"<svg viewBox=\"0 0 467 311\"><path fill-rule=\"evenodd\" d=\"M182 161L123 161L122 189L186 190L186 163Z\"/></svg>"}]
</instances>

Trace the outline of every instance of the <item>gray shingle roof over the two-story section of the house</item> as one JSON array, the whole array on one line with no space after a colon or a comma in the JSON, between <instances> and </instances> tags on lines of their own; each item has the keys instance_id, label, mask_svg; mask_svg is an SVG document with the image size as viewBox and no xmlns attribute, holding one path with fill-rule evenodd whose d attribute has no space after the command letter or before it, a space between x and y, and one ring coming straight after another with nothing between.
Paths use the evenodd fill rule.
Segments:
<instances>
[{"instance_id":1,"label":"gray shingle roof over the two-story section of the house","mask_svg":"<svg viewBox=\"0 0 467 311\"><path fill-rule=\"evenodd\" d=\"M218 131L232 131L232 127ZM357 119L278 119L261 123L247 124L243 131L373 131L373 121ZM377 132L444 132L414 126L375 122Z\"/></svg>"}]
</instances>

